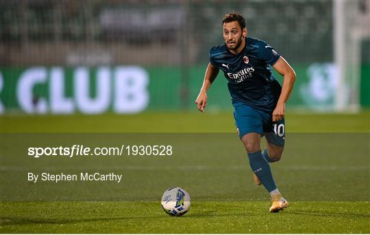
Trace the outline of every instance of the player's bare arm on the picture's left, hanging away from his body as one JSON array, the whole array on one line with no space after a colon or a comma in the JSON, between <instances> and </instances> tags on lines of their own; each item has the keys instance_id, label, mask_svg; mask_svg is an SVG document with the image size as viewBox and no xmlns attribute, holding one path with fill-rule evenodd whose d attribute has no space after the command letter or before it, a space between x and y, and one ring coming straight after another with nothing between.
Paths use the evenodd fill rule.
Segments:
<instances>
[{"instance_id":1,"label":"player's bare arm on the picture's left, hanging away from his body","mask_svg":"<svg viewBox=\"0 0 370 235\"><path fill-rule=\"evenodd\" d=\"M207 106L207 92L210 88L210 85L213 83L214 79L216 79L217 74L219 74L219 68L212 66L212 64L208 64L206 74L204 75L203 85L201 86L201 90L195 100L195 104L197 104L198 110L202 113Z\"/></svg>"}]
</instances>

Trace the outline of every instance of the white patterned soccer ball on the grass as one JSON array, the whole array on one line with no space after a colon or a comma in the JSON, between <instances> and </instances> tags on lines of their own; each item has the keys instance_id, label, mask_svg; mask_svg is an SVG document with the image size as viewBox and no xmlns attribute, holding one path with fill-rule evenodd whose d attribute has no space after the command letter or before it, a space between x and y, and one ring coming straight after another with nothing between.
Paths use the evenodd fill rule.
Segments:
<instances>
[{"instance_id":1,"label":"white patterned soccer ball on the grass","mask_svg":"<svg viewBox=\"0 0 370 235\"><path fill-rule=\"evenodd\" d=\"M161 204L164 212L180 217L190 208L190 195L182 188L173 187L164 191Z\"/></svg>"}]
</instances>

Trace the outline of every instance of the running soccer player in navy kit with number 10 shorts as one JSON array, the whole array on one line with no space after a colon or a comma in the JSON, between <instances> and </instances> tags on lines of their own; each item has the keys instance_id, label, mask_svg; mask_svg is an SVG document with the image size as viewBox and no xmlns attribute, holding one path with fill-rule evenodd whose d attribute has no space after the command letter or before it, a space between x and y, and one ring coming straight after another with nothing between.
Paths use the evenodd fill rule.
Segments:
<instances>
[{"instance_id":1,"label":"running soccer player in navy kit with number 10 shorts","mask_svg":"<svg viewBox=\"0 0 370 235\"><path fill-rule=\"evenodd\" d=\"M288 202L277 189L269 163L279 161L284 150L285 103L293 89L295 72L269 44L247 37L245 18L230 12L223 18L224 44L210 49L210 63L195 103L204 112L207 91L223 71L234 106L234 119L240 140L247 150L254 181L271 195L270 212L279 212ZM271 74L271 66L284 77L281 86ZM260 139L267 148L261 152Z\"/></svg>"}]
</instances>

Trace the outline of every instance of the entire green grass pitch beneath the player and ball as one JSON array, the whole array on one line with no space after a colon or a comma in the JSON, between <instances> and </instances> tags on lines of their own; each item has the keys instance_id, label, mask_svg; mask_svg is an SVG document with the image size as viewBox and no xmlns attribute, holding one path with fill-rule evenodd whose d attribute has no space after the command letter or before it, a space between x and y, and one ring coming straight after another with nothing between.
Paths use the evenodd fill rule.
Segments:
<instances>
[{"instance_id":1,"label":"entire green grass pitch beneath the player and ball","mask_svg":"<svg viewBox=\"0 0 370 235\"><path fill-rule=\"evenodd\" d=\"M231 112L0 118L1 233L370 233L367 111L287 114L286 150L271 167L291 205L276 214L268 212L269 197L262 186L254 185ZM32 165L23 149L34 140L19 141L32 133L123 133L89 140L103 146L125 138L151 143L162 135L144 133L171 133L162 141L172 143L177 154L73 158L53 165L40 158ZM78 136L71 138L73 143ZM18 157L6 158L12 151ZM114 169L123 174L123 182L25 182L23 173L29 168L46 167L71 173ZM160 207L169 186L182 186L192 197L183 217L170 217Z\"/></svg>"}]
</instances>

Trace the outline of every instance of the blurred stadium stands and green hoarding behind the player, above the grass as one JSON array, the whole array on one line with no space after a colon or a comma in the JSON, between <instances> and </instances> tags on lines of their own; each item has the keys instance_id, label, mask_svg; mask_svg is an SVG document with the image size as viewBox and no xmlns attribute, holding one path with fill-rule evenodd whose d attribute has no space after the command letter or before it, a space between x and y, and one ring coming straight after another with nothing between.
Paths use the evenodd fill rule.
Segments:
<instances>
[{"instance_id":1,"label":"blurred stadium stands and green hoarding behind the player, above the grass","mask_svg":"<svg viewBox=\"0 0 370 235\"><path fill-rule=\"evenodd\" d=\"M2 113L195 109L208 51L223 42L221 19L230 10L246 17L249 36L269 42L295 68L289 110L370 105L369 1L343 1L340 16L335 1L0 4ZM345 32L336 34L340 20ZM338 61L337 35L347 50L339 59L355 68L349 74ZM219 75L209 92L210 111L231 110L225 84ZM344 99L341 107L338 98Z\"/></svg>"}]
</instances>

